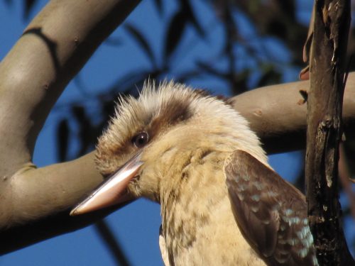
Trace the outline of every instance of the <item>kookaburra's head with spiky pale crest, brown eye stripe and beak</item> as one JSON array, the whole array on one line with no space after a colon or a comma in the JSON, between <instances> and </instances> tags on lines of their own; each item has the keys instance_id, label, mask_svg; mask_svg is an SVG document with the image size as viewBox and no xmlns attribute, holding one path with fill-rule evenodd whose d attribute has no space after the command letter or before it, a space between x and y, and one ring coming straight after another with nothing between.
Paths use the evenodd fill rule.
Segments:
<instances>
[{"instance_id":1,"label":"kookaburra's head with spiky pale crest, brown eye stripe and beak","mask_svg":"<svg viewBox=\"0 0 355 266\"><path fill-rule=\"evenodd\" d=\"M159 202L165 184L174 184L175 172L199 149L245 150L266 162L248 122L225 101L183 84L146 82L138 99L119 99L97 144L97 167L109 177L71 214L140 196Z\"/></svg>"}]
</instances>

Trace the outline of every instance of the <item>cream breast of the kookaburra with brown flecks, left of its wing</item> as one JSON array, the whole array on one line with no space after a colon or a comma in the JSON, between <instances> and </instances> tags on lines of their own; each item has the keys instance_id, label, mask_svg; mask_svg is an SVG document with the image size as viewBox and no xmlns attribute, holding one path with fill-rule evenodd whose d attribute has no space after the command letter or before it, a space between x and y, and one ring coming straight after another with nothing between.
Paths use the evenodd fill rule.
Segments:
<instances>
[{"instance_id":1,"label":"cream breast of the kookaburra with brown flecks, left of its wing","mask_svg":"<svg viewBox=\"0 0 355 266\"><path fill-rule=\"evenodd\" d=\"M161 184L170 265L265 265L232 214L223 172L227 154L197 148L174 161L173 184Z\"/></svg>"}]
</instances>

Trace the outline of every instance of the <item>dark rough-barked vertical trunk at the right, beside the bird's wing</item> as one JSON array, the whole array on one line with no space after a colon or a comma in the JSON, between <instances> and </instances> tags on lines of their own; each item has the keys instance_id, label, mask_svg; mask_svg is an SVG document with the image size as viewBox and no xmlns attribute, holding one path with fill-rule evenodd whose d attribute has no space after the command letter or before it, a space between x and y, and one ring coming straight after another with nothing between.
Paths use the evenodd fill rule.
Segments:
<instances>
[{"instance_id":1,"label":"dark rough-barked vertical trunk at the right, beside the bird's wing","mask_svg":"<svg viewBox=\"0 0 355 266\"><path fill-rule=\"evenodd\" d=\"M354 265L342 229L339 141L350 1L315 1L307 97L305 174L310 228L320 265Z\"/></svg>"}]
</instances>

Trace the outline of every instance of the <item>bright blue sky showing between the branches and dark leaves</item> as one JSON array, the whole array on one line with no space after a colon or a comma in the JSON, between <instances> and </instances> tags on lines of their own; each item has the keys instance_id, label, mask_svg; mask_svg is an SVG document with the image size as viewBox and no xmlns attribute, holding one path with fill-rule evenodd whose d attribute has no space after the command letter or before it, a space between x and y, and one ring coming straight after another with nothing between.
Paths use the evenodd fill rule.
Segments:
<instances>
[{"instance_id":1,"label":"bright blue sky showing between the branches and dark leaves","mask_svg":"<svg viewBox=\"0 0 355 266\"><path fill-rule=\"evenodd\" d=\"M23 10L21 4L19 4L21 1L13 1L11 6L6 6L4 2L0 0L0 59L11 49L11 46L16 42L27 24L22 19ZM165 28L161 25L161 18L159 18L153 8L152 2L143 1L129 16L128 21L135 23L138 28L146 33L146 38L156 44L154 49L157 52L162 49L162 35ZM304 2L300 1L301 4ZM164 3L166 3L165 16L169 16L170 12L173 12L176 8L175 1L166 1ZM210 17L206 21L213 21L214 13L205 10L201 1L196 1L196 3L197 6L200 5L200 12L197 16ZM45 1L40 1L36 4L32 13L37 13L44 4ZM300 9L302 19L307 19L308 10L307 6L304 9ZM209 27L208 25L203 26ZM194 33L187 31L182 47L178 48L176 52L176 56L182 59L175 66L175 71L178 72L190 67L192 62L189 58L195 56L196 50L199 52L206 50L208 52L211 48L216 47L217 49L219 45L218 36L222 34L222 31L218 26L212 27L212 31L214 31L215 38L207 40L206 43L198 43L198 45L191 45L191 43L194 43ZM123 45L114 47L103 44L95 52L92 60L80 72L85 94L94 94L100 88L107 87L114 82L118 73L122 75L134 70L137 65L148 67L150 64L145 55L122 28L115 31L113 37L118 38ZM270 41L272 42L273 40ZM271 44L278 45L275 42ZM188 49L188 54L185 56L186 49ZM158 58L158 60L161 60L161 58ZM173 75L168 78L173 78ZM297 71L291 70L288 74L285 74L284 79L289 82L297 80ZM202 83L194 83L192 81L192 85L208 87L215 91L217 91L216 88L219 88L221 89L219 93L228 93L223 89L224 84L217 80L208 79ZM43 131L40 133L35 147L34 162L36 165L43 166L56 162L55 126L58 118L67 115L65 106L72 99L87 101L87 97L76 87L74 82L70 83L62 94L57 105L60 107L55 108L53 113L50 114ZM91 104L91 102L88 104ZM94 112L95 106L92 103L92 113L94 114ZM72 145L75 146L75 143L72 143ZM293 179L298 174L298 166L302 157L300 153L289 153L286 155L273 155L270 160L271 165L281 176ZM132 265L163 265L158 249L158 228L160 226L158 204L140 199L111 214L107 217L107 221L119 242L122 243ZM97 236L94 227L89 226L75 233L60 235L0 257L0 265L115 265L115 262Z\"/></svg>"}]
</instances>

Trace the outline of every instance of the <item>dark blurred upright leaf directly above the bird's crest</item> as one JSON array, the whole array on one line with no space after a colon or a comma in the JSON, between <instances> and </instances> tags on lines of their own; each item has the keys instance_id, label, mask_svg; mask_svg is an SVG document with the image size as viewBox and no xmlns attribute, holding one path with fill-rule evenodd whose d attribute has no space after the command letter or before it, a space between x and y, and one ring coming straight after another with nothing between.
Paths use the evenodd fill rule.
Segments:
<instances>
[{"instance_id":1,"label":"dark blurred upright leaf directly above the bird's crest","mask_svg":"<svg viewBox=\"0 0 355 266\"><path fill-rule=\"evenodd\" d=\"M170 58L171 55L173 55L173 52L175 51L175 49L178 47L178 44L180 43L182 33L185 30L186 22L187 22L186 13L180 10L177 13L175 13L175 15L173 16L173 18L169 23L167 33L165 35L165 49L164 49L165 65L167 65L166 62L168 62L168 59Z\"/></svg>"}]
</instances>

